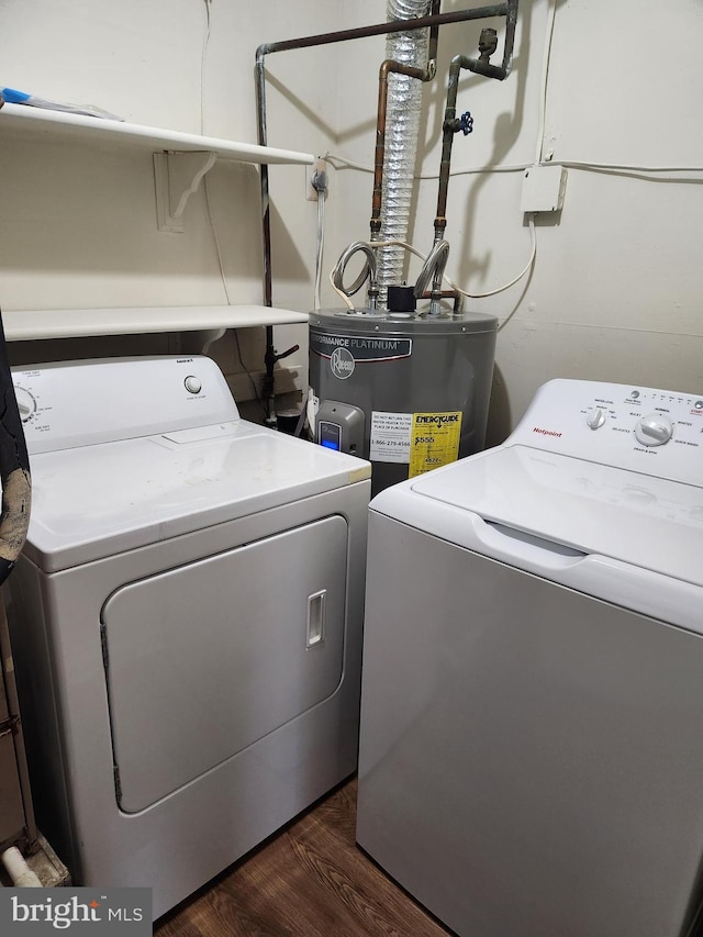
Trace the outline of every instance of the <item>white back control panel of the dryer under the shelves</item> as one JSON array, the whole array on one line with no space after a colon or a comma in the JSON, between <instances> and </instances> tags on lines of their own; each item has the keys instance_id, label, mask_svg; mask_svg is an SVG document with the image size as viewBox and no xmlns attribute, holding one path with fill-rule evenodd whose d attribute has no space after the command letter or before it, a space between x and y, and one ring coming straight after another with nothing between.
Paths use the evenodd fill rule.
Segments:
<instances>
[{"instance_id":1,"label":"white back control panel of the dryer under the shelves","mask_svg":"<svg viewBox=\"0 0 703 937\"><path fill-rule=\"evenodd\" d=\"M13 368L30 455L238 419L204 356L110 358Z\"/></svg>"}]
</instances>

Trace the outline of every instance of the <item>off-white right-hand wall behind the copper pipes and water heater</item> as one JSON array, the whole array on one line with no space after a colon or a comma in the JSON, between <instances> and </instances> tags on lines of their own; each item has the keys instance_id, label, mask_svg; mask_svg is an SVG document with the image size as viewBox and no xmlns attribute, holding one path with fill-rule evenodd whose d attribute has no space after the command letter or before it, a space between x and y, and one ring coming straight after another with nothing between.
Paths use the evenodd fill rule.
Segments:
<instances>
[{"instance_id":1,"label":"off-white right-hand wall behind the copper pipes and water heater","mask_svg":"<svg viewBox=\"0 0 703 937\"><path fill-rule=\"evenodd\" d=\"M445 0L443 10L465 5ZM520 8L507 81L464 72L459 86L457 111L471 110L475 132L454 143L453 171L459 175L449 185L448 272L470 292L510 281L529 255L520 211L522 172L460 175L535 159L548 3L521 0ZM384 3L356 4L357 22L364 15L368 22L383 19ZM438 82L425 92L423 175L438 170L448 62L458 53L476 55L479 32L475 23L443 27ZM702 43L700 0L557 0L545 150L555 161L703 170L703 125L696 119ZM368 85L375 79L369 68ZM348 92L372 94L358 82ZM342 90L339 107L344 112ZM370 165L369 130L339 146ZM345 170L333 178L333 187L341 188L342 176L347 182L342 215L354 227L347 242L367 236L370 211L370 177L356 174L368 191L364 211L347 181L353 175ZM703 391L702 182L703 171L569 168L562 212L537 216L532 276L468 302L502 323L512 315L499 335L492 442L504 437L551 377ZM432 244L436 198L435 181L419 182L413 241L421 249Z\"/></svg>"}]
</instances>

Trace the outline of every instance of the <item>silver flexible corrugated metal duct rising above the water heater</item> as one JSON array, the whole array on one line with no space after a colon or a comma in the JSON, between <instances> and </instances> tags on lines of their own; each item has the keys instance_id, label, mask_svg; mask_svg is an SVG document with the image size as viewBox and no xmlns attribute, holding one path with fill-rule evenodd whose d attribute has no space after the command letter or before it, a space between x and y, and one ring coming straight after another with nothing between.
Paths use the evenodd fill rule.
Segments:
<instances>
[{"instance_id":1,"label":"silver flexible corrugated metal duct rising above the water heater","mask_svg":"<svg viewBox=\"0 0 703 937\"><path fill-rule=\"evenodd\" d=\"M427 15L431 0L388 0L388 20L410 20ZM424 68L427 63L428 31L392 33L386 40L386 57ZM413 172L420 133L422 82L406 75L388 77L386 154L383 159L383 200L381 239L406 241ZM405 252L402 247L379 247L379 304L386 306L387 288L403 278Z\"/></svg>"}]
</instances>

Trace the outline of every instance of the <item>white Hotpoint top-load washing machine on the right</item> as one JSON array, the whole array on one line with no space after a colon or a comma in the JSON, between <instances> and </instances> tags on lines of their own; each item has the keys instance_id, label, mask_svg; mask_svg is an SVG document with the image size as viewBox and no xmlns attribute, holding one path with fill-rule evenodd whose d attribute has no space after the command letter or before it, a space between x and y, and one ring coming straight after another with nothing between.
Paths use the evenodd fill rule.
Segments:
<instances>
[{"instance_id":1,"label":"white Hotpoint top-load washing machine on the right","mask_svg":"<svg viewBox=\"0 0 703 937\"><path fill-rule=\"evenodd\" d=\"M461 937L682 937L703 860L703 393L545 384L371 502L357 839Z\"/></svg>"}]
</instances>

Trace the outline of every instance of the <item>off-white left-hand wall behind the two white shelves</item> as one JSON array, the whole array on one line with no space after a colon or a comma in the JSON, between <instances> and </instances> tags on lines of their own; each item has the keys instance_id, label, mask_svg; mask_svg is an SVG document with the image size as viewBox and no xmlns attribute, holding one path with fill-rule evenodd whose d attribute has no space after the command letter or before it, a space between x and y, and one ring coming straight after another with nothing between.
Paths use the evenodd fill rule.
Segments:
<instances>
[{"instance_id":1,"label":"off-white left-hand wall behind the two white shelves","mask_svg":"<svg viewBox=\"0 0 703 937\"><path fill-rule=\"evenodd\" d=\"M134 123L256 143L257 46L333 29L335 8L317 0L212 0L210 7L204 0L0 0L0 85L94 103ZM326 149L335 119L333 56L320 49L304 62L294 54L269 57L271 145ZM147 150L4 132L0 304L62 310L226 303L213 227L230 301L260 303L258 169L217 164L208 176L212 223L201 186L186 208L183 234L157 231L153 175ZM271 167L270 177L274 302L306 310L315 205L302 198L302 166ZM244 357L257 370L261 336L247 332ZM282 335L279 347L287 341ZM135 343L130 341L130 350ZM111 343L94 344L102 354ZM124 343L112 346L121 350ZM74 347L43 343L41 350L64 357ZM81 343L80 352L86 347ZM144 347L154 350L154 339L145 338ZM164 338L156 347L167 350L174 343ZM213 346L215 357L223 357L223 347L225 367L239 370L231 342ZM36 348L15 346L12 354L36 359ZM305 368L304 349L295 364ZM237 386L248 389L246 381Z\"/></svg>"}]
</instances>

